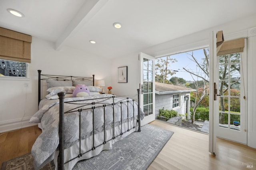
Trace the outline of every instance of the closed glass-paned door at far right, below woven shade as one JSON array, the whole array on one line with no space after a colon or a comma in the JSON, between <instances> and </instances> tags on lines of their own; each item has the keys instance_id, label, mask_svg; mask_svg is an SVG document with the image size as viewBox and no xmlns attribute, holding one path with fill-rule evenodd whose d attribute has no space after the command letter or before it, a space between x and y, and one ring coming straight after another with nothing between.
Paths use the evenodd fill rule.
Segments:
<instances>
[{"instance_id":1,"label":"closed glass-paned door at far right, below woven shade","mask_svg":"<svg viewBox=\"0 0 256 170\"><path fill-rule=\"evenodd\" d=\"M244 52L216 56L214 111L216 136L247 144L247 47Z\"/></svg>"}]
</instances>

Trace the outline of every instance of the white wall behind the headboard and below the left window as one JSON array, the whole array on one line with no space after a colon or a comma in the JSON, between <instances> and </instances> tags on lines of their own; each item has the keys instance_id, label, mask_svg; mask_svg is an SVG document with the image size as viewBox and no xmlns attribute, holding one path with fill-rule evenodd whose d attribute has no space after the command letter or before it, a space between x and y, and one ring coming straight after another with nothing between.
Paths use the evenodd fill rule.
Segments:
<instances>
[{"instance_id":1,"label":"white wall behind the headboard and below the left window","mask_svg":"<svg viewBox=\"0 0 256 170\"><path fill-rule=\"evenodd\" d=\"M38 72L42 74L92 76L104 79L106 87L111 85L111 61L64 47L54 49L54 43L32 37L31 64L28 66L28 79L0 77L0 133L34 125L28 123L38 110ZM29 87L25 88L24 83ZM23 118L23 119L22 119Z\"/></svg>"}]
</instances>

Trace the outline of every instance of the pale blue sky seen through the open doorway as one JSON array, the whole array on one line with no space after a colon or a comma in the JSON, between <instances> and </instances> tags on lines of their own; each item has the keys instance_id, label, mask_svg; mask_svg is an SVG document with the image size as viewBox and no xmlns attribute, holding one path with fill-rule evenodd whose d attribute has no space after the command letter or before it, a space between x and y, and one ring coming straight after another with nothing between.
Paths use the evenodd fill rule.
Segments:
<instances>
[{"instance_id":1,"label":"pale blue sky seen through the open doorway","mask_svg":"<svg viewBox=\"0 0 256 170\"><path fill-rule=\"evenodd\" d=\"M168 76L168 80L170 80L170 78L172 77L179 77L179 78L184 78L186 81L193 81L193 78L190 75L190 73L186 72L183 69L183 67L186 68L187 70L192 70L192 72L195 72L195 73L198 72L198 70L200 69L196 67L196 63L190 60L192 59L192 57L187 53L192 54L192 52L186 52L186 53L171 55L171 58L175 58L178 62L170 63L170 67L168 68L170 70L177 70L178 72L176 72L176 74L172 76ZM209 54L208 51L207 53ZM203 49L194 50L193 55L200 63L201 59L204 58L204 51ZM195 80L197 80L196 76L194 76L194 78ZM202 80L202 79L198 79L198 80Z\"/></svg>"}]
</instances>

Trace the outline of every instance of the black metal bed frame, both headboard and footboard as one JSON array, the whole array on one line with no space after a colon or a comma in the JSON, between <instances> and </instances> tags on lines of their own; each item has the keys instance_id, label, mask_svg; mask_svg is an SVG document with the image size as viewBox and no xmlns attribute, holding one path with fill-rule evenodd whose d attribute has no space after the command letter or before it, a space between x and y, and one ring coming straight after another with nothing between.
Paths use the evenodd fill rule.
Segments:
<instances>
[{"instance_id":1,"label":"black metal bed frame, both headboard and footboard","mask_svg":"<svg viewBox=\"0 0 256 170\"><path fill-rule=\"evenodd\" d=\"M46 78L41 78L41 76L46 76ZM55 80L72 80L72 77L73 78L76 78L76 80L92 80L93 81L93 85L94 85L94 75L93 77L74 77L74 76L56 76L56 75L47 75L47 74L41 74L41 70L38 70L38 104L40 102L40 92L41 92L41 80L46 80L47 78L56 78ZM70 78L70 79L69 79ZM100 147L101 145L104 145L106 144L108 141L111 141L113 139L115 139L116 137L119 137L121 135L123 135L124 133L126 132L129 132L131 129L134 129L135 128L135 119L134 119L134 101L135 99L132 99L132 102L133 102L133 127L131 127L129 129L129 117L127 115L127 124L128 124L128 129L126 129L126 131L123 132L123 129L122 129L122 103L123 102L127 102L127 114L128 114L128 104L129 102L131 102L131 100L129 100L129 98L120 98L120 100L118 102L114 102L114 98L118 98L116 96L112 96L112 97L104 97L104 98L98 98L98 99L102 99L102 101L100 102L91 102L91 103L87 103L87 104L81 104L80 107L76 107L75 109L72 109L72 110L69 110L69 111L66 111L64 112L64 104L65 103L68 103L68 104L77 104L77 102L81 102L81 101L88 101L88 100L79 100L79 101L74 101L74 102L64 102L64 96L65 96L66 93L64 92L60 92L58 93L58 96L59 96L59 100L60 100L60 104L59 104L59 154L58 154L58 168L60 170L64 170L64 164L76 159L76 158L79 158L81 157L83 154L86 154L87 152L91 151L91 150L94 150L96 149L97 147ZM140 128L140 89L137 89L137 95L138 95L138 119L136 120L138 122L138 131L140 132L141 131L141 128ZM113 102L112 104L107 104L107 103L104 103L105 100L107 99L110 99L110 98L113 98ZM101 106L97 105L96 104L102 104ZM115 134L115 131L114 131L114 105L116 104L120 104L120 108L121 108L121 133L120 134ZM80 123L81 123L81 112L85 109L82 109L82 107L84 106L88 106L88 105L91 105L92 107L90 108L86 108L86 109L92 109L92 138L93 138L93 147L92 149L90 150L87 150L86 152L81 152L81 134L80 134L80 131L81 131L81 127L80 127ZM112 139L109 139L106 141L106 136L105 136L105 133L106 133L106 129L105 129L105 107L106 106L112 106L112 112L113 112L113 137ZM102 144L98 145L98 146L94 146L94 110L96 108L103 108L103 114L104 114L104 141L102 142ZM64 114L65 113L72 113L72 112L79 112L79 154L78 156L72 158L71 160L68 160L67 162L64 162Z\"/></svg>"}]
</instances>

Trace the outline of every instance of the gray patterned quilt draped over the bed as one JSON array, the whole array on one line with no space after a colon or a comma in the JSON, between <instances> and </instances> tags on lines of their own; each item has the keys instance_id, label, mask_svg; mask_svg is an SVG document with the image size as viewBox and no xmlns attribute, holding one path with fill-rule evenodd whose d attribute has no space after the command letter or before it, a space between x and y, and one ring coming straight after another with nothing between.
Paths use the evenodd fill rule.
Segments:
<instances>
[{"instance_id":1,"label":"gray patterned quilt draped over the bed","mask_svg":"<svg viewBox=\"0 0 256 170\"><path fill-rule=\"evenodd\" d=\"M109 97L106 99L105 97ZM64 112L74 109L75 112L65 113L64 115L64 147L68 148L74 143L79 141L79 112L78 107L82 106L83 110L81 112L81 138L85 139L92 135L92 102L98 102L95 104L96 109L94 109L94 133L104 130L104 114L103 114L103 104L105 107L105 127L106 129L112 128L113 126L113 106L108 105L113 103L113 98L110 94L101 94L96 96L88 96L86 98L65 98L65 102L77 101L76 104L64 104ZM101 98L105 98L104 100ZM83 102L79 100L85 100ZM128 119L133 119L134 116L137 118L138 115L138 104L136 102L126 102L124 98L114 98L114 125L120 124L121 114L120 110L122 108L122 122L128 121ZM123 100L122 107L120 101ZM83 103L81 105L81 103ZM90 104L87 105L86 104ZM134 106L133 106L134 104ZM128 107L128 109L127 109ZM127 113L127 110L129 113ZM135 118L135 119L136 119ZM144 113L142 109L140 110L140 118L144 118ZM30 122L41 123L42 133L36 139L31 153L34 156L34 166L36 169L42 168L45 164L53 160L54 153L58 149L58 131L59 131L59 100L42 100L40 102L40 109L31 117Z\"/></svg>"}]
</instances>

